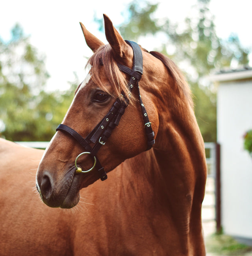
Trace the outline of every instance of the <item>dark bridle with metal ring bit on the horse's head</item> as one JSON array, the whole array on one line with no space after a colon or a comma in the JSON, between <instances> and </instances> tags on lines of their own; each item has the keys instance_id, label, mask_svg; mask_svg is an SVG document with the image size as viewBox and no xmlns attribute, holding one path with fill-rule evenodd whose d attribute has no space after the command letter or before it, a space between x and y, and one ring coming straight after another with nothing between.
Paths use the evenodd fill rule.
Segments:
<instances>
[{"instance_id":1,"label":"dark bridle with metal ring bit on the horse's head","mask_svg":"<svg viewBox=\"0 0 252 256\"><path fill-rule=\"evenodd\" d=\"M148 147L146 150L149 150L152 148L152 145L155 143L154 139L154 132L151 127L151 123L149 121L148 115L146 113L145 106L143 104L143 101L141 99L140 90L139 90L139 80L141 79L141 76L143 74L143 55L141 48L139 45L133 41L126 41L128 45L130 45L133 49L133 69L123 66L121 64L117 64L119 69L130 75L130 79L128 82L128 89L129 93L128 95L125 95L124 92L122 92L121 97L117 98L107 115L96 125L96 127L92 130L92 132L84 139L78 132L70 128L69 126L65 124L59 124L56 131L64 131L70 134L74 139L76 139L80 145L86 150L86 152L82 152L76 157L75 160L75 167L76 167L76 173L85 173L93 170L93 168L98 169L98 173L100 175L100 179L102 181L107 179L106 171L104 171L104 168L100 164L100 161L97 158L97 153L99 149L105 145L107 139L111 136L111 133L115 126L118 126L119 121L124 114L125 108L128 106L131 96L131 92L134 87L137 88L138 95L139 95L139 102L141 105L142 113L143 113L143 120L145 124L145 134L147 137L147 143ZM89 145L90 143L95 143L93 148ZM77 160L78 158L83 154L90 154L94 158L94 165L92 168L90 168L87 171L83 171L80 166L77 166Z\"/></svg>"}]
</instances>

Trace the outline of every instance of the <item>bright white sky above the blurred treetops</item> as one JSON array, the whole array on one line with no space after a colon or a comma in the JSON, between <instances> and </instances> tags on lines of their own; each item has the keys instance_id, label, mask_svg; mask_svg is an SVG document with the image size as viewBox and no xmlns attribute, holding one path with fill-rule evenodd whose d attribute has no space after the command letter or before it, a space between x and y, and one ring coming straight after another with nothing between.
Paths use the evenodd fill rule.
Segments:
<instances>
[{"instance_id":1,"label":"bright white sky above the blurred treetops","mask_svg":"<svg viewBox=\"0 0 252 256\"><path fill-rule=\"evenodd\" d=\"M11 28L19 23L24 33L31 36L30 42L46 55L46 69L51 76L48 87L65 89L68 87L67 81L74 80L73 72L77 73L80 80L85 77L84 56L92 54L85 44L79 22L106 43L105 36L98 32L97 25L93 22L93 14L102 18L102 14L106 13L113 24L117 25L124 21L121 13L129 2L131 0L6 0L2 2L0 9L0 36L8 40ZM182 22L197 0L159 2L159 17ZM225 39L235 33L243 46L252 49L252 1L211 0L210 10L215 15L219 37ZM141 44L145 47L142 42ZM152 50L149 46L146 48Z\"/></svg>"}]
</instances>

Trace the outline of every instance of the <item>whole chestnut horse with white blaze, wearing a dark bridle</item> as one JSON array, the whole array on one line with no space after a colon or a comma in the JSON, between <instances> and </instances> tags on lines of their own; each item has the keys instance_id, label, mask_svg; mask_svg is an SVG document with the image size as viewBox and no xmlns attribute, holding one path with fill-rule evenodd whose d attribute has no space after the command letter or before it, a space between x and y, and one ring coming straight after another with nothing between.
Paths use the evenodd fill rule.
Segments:
<instances>
[{"instance_id":1,"label":"whole chestnut horse with white blaze, wearing a dark bridle","mask_svg":"<svg viewBox=\"0 0 252 256\"><path fill-rule=\"evenodd\" d=\"M2 255L206 255L204 142L182 72L106 15L107 45L80 24L89 74L43 155L3 146ZM22 188L25 167L44 204Z\"/></svg>"}]
</instances>

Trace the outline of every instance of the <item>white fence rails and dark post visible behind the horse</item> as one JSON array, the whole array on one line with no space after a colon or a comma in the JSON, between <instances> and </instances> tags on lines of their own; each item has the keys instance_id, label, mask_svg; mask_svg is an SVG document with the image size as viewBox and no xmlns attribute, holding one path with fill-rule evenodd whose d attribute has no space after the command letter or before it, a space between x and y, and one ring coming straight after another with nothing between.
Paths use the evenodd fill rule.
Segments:
<instances>
[{"instance_id":1,"label":"white fence rails and dark post visible behind the horse","mask_svg":"<svg viewBox=\"0 0 252 256\"><path fill-rule=\"evenodd\" d=\"M17 141L25 147L45 149L47 141ZM220 185L220 145L214 142L205 143L208 176L205 198L202 204L202 222L206 235L221 230L221 185Z\"/></svg>"}]
</instances>

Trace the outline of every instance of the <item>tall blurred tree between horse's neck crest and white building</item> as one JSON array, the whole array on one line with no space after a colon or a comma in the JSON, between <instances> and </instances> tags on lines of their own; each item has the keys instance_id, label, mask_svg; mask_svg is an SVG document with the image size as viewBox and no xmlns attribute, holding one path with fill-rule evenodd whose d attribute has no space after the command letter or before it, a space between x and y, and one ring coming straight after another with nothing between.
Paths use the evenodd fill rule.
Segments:
<instances>
[{"instance_id":1,"label":"tall blurred tree between horse's neck crest and white building","mask_svg":"<svg viewBox=\"0 0 252 256\"><path fill-rule=\"evenodd\" d=\"M195 115L204 140L216 141L216 88L206 77L213 70L230 68L233 64L247 65L249 52L241 46L237 36L231 35L228 41L218 38L209 2L198 0L194 7L196 15L185 19L183 32L176 33L177 26L175 30L172 26L169 29L169 23L163 32L167 31L176 45L176 55L180 53L174 58L178 63L186 60L193 74L187 73L187 79L195 96Z\"/></svg>"}]
</instances>

